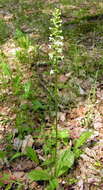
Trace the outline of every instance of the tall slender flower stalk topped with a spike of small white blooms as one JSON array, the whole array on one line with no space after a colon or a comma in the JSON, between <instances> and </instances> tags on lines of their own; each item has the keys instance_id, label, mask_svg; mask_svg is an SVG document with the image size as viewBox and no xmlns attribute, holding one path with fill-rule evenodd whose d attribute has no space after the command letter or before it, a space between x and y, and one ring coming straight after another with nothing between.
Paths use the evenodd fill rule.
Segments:
<instances>
[{"instance_id":1,"label":"tall slender flower stalk topped with a spike of small white blooms","mask_svg":"<svg viewBox=\"0 0 103 190\"><path fill-rule=\"evenodd\" d=\"M63 36L62 36L62 21L61 21L61 11L59 9L55 9L53 12L53 17L51 18L51 27L50 27L50 53L49 58L52 63L52 69L50 74L54 74L54 101L55 101L55 169L54 176L57 177L57 149L58 149L58 71L59 71L59 63L63 59Z\"/></svg>"}]
</instances>

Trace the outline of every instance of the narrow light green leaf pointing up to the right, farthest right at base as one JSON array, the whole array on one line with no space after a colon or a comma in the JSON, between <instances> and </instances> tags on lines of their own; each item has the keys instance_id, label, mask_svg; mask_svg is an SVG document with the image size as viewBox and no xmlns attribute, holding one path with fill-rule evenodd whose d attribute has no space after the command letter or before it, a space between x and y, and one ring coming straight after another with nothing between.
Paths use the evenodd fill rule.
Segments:
<instances>
[{"instance_id":1,"label":"narrow light green leaf pointing up to the right, farthest right at base","mask_svg":"<svg viewBox=\"0 0 103 190\"><path fill-rule=\"evenodd\" d=\"M91 135L92 135L91 131L83 132L81 136L79 137L79 139L76 140L75 145L74 145L74 150L83 146L84 143L88 140L88 138Z\"/></svg>"}]
</instances>

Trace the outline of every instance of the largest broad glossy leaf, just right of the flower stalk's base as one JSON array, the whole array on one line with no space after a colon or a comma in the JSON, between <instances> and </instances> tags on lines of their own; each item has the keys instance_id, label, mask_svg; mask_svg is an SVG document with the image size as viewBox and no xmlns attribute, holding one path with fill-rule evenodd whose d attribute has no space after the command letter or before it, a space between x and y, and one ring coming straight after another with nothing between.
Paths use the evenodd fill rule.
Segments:
<instances>
[{"instance_id":1,"label":"largest broad glossy leaf, just right of the flower stalk's base","mask_svg":"<svg viewBox=\"0 0 103 190\"><path fill-rule=\"evenodd\" d=\"M74 153L71 150L64 150L57 161L57 176L61 176L72 167L74 163Z\"/></svg>"}]
</instances>

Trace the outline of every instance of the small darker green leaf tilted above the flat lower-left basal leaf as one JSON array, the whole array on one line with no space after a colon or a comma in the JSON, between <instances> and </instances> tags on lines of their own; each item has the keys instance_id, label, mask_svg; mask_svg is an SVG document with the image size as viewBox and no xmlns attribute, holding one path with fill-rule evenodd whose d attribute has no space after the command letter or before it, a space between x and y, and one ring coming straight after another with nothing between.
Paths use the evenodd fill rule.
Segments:
<instances>
[{"instance_id":1,"label":"small darker green leaf tilted above the flat lower-left basal leaf","mask_svg":"<svg viewBox=\"0 0 103 190\"><path fill-rule=\"evenodd\" d=\"M39 163L39 159L37 157L36 151L32 149L31 147L27 147L26 149L26 155L37 164Z\"/></svg>"}]
</instances>

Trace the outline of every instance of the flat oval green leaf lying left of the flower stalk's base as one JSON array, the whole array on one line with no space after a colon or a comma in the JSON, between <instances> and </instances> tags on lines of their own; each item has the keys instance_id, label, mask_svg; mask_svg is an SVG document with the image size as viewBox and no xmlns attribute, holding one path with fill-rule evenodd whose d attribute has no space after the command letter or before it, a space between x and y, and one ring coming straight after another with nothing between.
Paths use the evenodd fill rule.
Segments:
<instances>
[{"instance_id":1,"label":"flat oval green leaf lying left of the flower stalk's base","mask_svg":"<svg viewBox=\"0 0 103 190\"><path fill-rule=\"evenodd\" d=\"M33 181L48 181L51 176L46 170L33 170L28 174L28 177Z\"/></svg>"}]
</instances>

